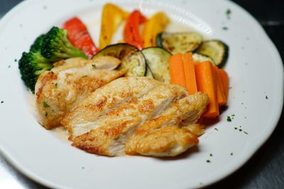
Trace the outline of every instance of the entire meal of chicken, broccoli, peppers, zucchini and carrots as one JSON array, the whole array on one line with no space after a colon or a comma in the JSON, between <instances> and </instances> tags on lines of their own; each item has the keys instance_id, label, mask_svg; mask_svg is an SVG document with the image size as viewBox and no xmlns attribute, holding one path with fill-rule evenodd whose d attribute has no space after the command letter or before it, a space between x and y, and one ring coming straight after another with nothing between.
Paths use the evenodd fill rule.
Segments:
<instances>
[{"instance_id":1,"label":"entire meal of chicken, broccoli, peppers, zucchini and carrots","mask_svg":"<svg viewBox=\"0 0 284 189\"><path fill-rule=\"evenodd\" d=\"M40 125L64 127L72 146L104 156L177 156L197 145L202 120L227 103L229 48L168 25L163 12L105 4L98 47L77 17L38 36L18 67Z\"/></svg>"}]
</instances>

